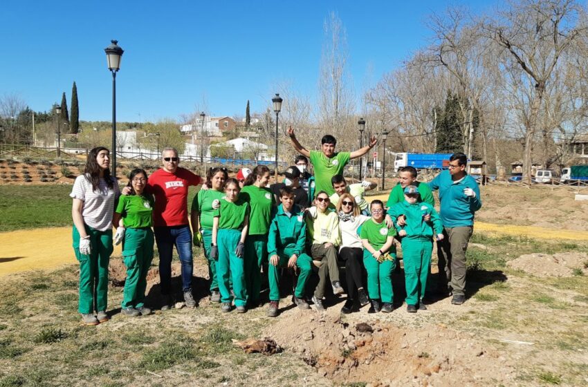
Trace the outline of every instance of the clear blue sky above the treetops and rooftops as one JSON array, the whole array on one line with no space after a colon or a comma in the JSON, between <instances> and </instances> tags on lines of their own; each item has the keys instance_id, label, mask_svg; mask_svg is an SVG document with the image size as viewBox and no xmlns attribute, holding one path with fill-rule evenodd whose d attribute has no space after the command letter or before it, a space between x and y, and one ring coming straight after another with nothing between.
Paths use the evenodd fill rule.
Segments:
<instances>
[{"instance_id":1,"label":"clear blue sky above the treetops and rooftops","mask_svg":"<svg viewBox=\"0 0 588 387\"><path fill-rule=\"evenodd\" d=\"M104 48L125 50L117 75L117 120L178 118L208 104L213 115L262 111L273 85L314 97L323 23L337 12L347 30L349 72L361 90L427 44L422 1L16 1L2 6L0 95L46 111L77 84L80 120L111 120ZM485 10L492 3L471 1Z\"/></svg>"}]
</instances>

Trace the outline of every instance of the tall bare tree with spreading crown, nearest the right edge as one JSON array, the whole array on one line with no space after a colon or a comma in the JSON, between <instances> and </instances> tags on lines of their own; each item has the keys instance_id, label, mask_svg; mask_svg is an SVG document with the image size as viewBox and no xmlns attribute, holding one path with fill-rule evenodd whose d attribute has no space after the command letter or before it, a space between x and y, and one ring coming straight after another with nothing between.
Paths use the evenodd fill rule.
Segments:
<instances>
[{"instance_id":1,"label":"tall bare tree with spreading crown, nearest the right edge","mask_svg":"<svg viewBox=\"0 0 588 387\"><path fill-rule=\"evenodd\" d=\"M513 92L525 106L523 176L531 182L533 138L540 130L540 109L546 86L560 58L585 29L578 26L580 7L571 0L520 0L499 17L488 20L485 30L504 48Z\"/></svg>"}]
</instances>

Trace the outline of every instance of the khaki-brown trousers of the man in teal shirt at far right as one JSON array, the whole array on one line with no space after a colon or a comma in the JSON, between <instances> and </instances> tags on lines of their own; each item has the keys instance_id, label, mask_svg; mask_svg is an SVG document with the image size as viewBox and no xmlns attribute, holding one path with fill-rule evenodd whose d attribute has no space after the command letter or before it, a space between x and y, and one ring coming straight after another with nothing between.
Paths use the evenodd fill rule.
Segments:
<instances>
[{"instance_id":1,"label":"khaki-brown trousers of the man in teal shirt at far right","mask_svg":"<svg viewBox=\"0 0 588 387\"><path fill-rule=\"evenodd\" d=\"M473 232L473 226L443 228L445 238L439 243L441 249L437 253L441 280L438 285L450 283L454 295L466 294L466 250Z\"/></svg>"}]
</instances>

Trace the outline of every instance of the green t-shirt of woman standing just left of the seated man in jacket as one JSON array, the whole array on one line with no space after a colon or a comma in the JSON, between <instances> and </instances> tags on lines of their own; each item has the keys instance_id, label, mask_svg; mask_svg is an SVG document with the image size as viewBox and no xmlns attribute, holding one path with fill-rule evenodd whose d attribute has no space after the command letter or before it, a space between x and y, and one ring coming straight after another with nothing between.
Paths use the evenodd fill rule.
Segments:
<instances>
[{"instance_id":1,"label":"green t-shirt of woman standing just left of the seated man in jacket","mask_svg":"<svg viewBox=\"0 0 588 387\"><path fill-rule=\"evenodd\" d=\"M249 203L249 235L266 235L270 229L270 220L274 207L272 191L266 187L246 185L241 189L239 198Z\"/></svg>"}]
</instances>

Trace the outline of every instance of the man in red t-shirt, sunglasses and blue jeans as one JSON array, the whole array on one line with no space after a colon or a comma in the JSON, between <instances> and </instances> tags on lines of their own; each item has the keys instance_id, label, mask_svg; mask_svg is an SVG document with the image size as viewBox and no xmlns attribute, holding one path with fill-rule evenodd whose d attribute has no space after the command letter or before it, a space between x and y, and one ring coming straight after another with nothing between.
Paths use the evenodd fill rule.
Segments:
<instances>
[{"instance_id":1,"label":"man in red t-shirt, sunglasses and blue jeans","mask_svg":"<svg viewBox=\"0 0 588 387\"><path fill-rule=\"evenodd\" d=\"M202 184L200 176L178 167L180 158L174 148L162 153L163 167L149 176L147 187L155 196L154 234L159 251L159 279L165 303L161 310L173 308L172 252L174 245L182 263L182 290L187 307L194 308L192 296L192 232L188 223L187 196L190 185Z\"/></svg>"}]
</instances>

